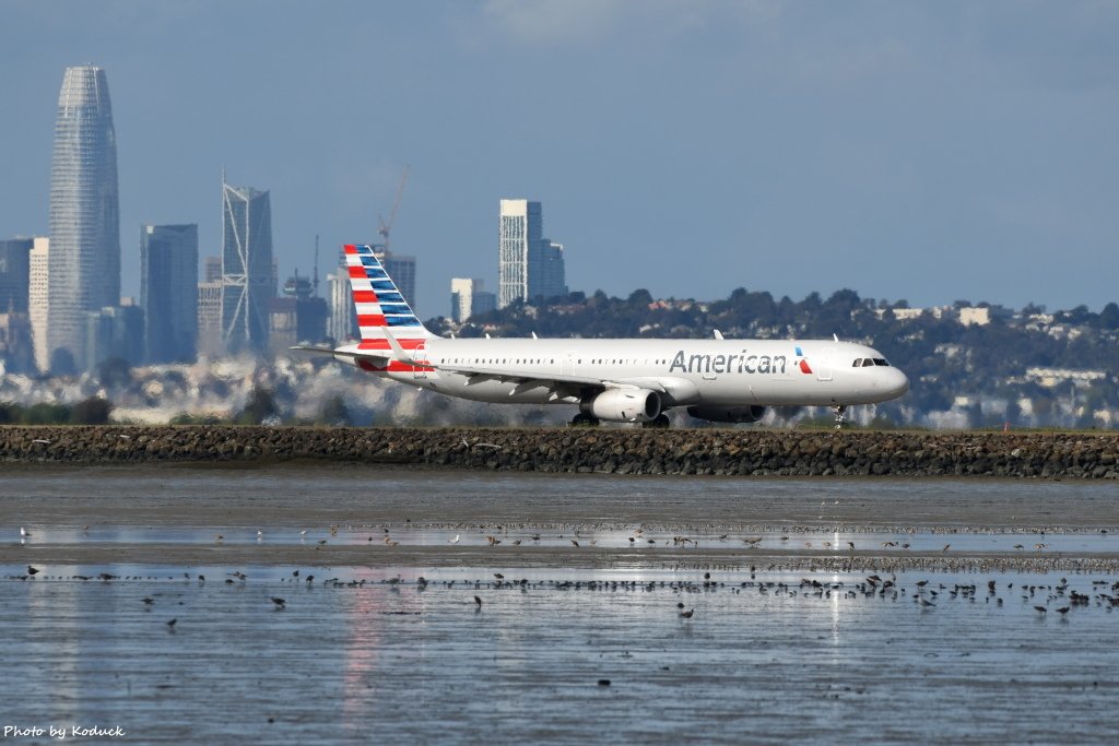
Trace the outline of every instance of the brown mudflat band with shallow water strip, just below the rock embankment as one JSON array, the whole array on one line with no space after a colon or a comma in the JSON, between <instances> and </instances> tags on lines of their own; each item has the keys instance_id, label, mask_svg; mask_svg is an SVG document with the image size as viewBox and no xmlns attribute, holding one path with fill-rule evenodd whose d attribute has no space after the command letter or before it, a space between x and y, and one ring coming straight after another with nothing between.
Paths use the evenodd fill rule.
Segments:
<instances>
[{"instance_id":1,"label":"brown mudflat band with shallow water strip, just below the rock embankment","mask_svg":"<svg viewBox=\"0 0 1119 746\"><path fill-rule=\"evenodd\" d=\"M1087 481L37 465L0 484L0 564L1106 569L1117 497Z\"/></svg>"}]
</instances>

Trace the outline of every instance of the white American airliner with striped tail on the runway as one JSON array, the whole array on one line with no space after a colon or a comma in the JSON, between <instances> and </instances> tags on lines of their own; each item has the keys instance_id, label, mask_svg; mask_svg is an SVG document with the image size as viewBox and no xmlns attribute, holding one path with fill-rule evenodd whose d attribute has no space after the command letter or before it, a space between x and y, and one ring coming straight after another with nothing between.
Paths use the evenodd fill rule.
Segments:
<instances>
[{"instance_id":1,"label":"white American airliner with striped tail on the runway","mask_svg":"<svg viewBox=\"0 0 1119 746\"><path fill-rule=\"evenodd\" d=\"M361 339L330 355L382 378L476 402L566 404L576 426L668 427L686 407L697 419L752 423L774 406L847 407L895 399L909 379L865 344L830 340L446 339L431 333L372 246L344 246Z\"/></svg>"}]
</instances>

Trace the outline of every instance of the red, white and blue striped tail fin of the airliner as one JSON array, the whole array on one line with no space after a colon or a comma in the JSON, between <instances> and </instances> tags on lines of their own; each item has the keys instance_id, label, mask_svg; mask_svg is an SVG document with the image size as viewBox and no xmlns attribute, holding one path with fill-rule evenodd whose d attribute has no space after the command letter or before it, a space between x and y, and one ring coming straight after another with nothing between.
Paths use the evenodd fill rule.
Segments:
<instances>
[{"instance_id":1,"label":"red, white and blue striped tail fin of the airliner","mask_svg":"<svg viewBox=\"0 0 1119 746\"><path fill-rule=\"evenodd\" d=\"M401 340L423 340L435 337L420 323L396 283L385 272L372 246L346 244L346 267L357 308L357 325L361 332L361 347L388 349L388 334ZM366 344L366 341L374 342ZM415 344L403 344L414 348Z\"/></svg>"}]
</instances>

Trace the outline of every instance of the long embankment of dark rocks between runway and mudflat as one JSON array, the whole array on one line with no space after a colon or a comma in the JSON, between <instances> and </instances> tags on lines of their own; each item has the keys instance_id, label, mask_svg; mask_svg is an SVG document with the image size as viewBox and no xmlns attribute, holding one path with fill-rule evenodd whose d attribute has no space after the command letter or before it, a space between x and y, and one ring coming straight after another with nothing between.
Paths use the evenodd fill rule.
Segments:
<instances>
[{"instance_id":1,"label":"long embankment of dark rocks between runway and mudflat","mask_svg":"<svg viewBox=\"0 0 1119 746\"><path fill-rule=\"evenodd\" d=\"M615 474L1119 479L1119 435L779 429L0 427L17 463L301 459Z\"/></svg>"}]
</instances>

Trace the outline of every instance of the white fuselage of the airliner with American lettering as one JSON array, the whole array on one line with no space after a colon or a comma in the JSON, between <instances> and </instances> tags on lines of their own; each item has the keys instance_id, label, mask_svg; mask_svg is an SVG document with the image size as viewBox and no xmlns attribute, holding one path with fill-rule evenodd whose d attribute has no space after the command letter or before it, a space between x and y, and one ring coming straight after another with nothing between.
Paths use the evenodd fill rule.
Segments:
<instances>
[{"instance_id":1,"label":"white fuselage of the airliner with American lettering","mask_svg":"<svg viewBox=\"0 0 1119 746\"><path fill-rule=\"evenodd\" d=\"M880 352L830 340L433 338L412 358L426 365L394 362L373 372L449 396L509 404L577 404L593 381L653 388L666 406L874 404L909 389L904 374ZM352 357L338 359L356 365ZM867 363L856 367L856 360ZM470 372L478 370L486 372ZM566 383L524 380L549 376Z\"/></svg>"}]
</instances>

